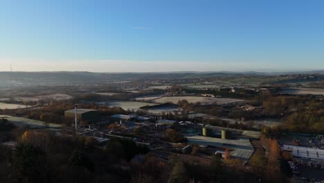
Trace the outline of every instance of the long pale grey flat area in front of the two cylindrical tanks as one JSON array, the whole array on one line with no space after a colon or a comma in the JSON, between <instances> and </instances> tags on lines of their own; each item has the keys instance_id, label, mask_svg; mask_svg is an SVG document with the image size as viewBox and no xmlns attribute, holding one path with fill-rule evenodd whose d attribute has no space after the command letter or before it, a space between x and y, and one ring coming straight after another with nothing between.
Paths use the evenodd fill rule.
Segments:
<instances>
[{"instance_id":1,"label":"long pale grey flat area in front of the two cylindrical tanks","mask_svg":"<svg viewBox=\"0 0 324 183\"><path fill-rule=\"evenodd\" d=\"M213 137L203 136L187 136L188 143L194 143L203 146L215 146L219 148L233 149L232 156L234 158L240 158L246 163L254 152L254 148L251 145L249 139L219 139Z\"/></svg>"}]
</instances>

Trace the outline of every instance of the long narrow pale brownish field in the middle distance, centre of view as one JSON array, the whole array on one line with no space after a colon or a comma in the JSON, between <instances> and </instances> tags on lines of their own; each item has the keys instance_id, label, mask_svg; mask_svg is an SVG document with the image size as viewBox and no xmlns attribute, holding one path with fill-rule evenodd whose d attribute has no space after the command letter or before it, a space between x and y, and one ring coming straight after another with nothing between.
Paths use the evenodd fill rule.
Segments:
<instances>
[{"instance_id":1,"label":"long narrow pale brownish field in the middle distance, centre of view","mask_svg":"<svg viewBox=\"0 0 324 183\"><path fill-rule=\"evenodd\" d=\"M155 103L174 103L187 100L189 103L201 103L201 105L210 105L217 103L218 105L226 105L229 103L242 103L244 100L235 98L208 98L203 96L163 96L154 100Z\"/></svg>"}]
</instances>

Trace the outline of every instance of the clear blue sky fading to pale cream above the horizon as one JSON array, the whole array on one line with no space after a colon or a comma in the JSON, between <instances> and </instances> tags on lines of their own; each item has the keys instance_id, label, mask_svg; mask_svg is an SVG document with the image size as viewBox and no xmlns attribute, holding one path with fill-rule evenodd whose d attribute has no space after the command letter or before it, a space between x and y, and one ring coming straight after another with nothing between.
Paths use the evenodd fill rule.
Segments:
<instances>
[{"instance_id":1,"label":"clear blue sky fading to pale cream above the horizon","mask_svg":"<svg viewBox=\"0 0 324 183\"><path fill-rule=\"evenodd\" d=\"M323 0L0 1L0 71L324 69Z\"/></svg>"}]
</instances>

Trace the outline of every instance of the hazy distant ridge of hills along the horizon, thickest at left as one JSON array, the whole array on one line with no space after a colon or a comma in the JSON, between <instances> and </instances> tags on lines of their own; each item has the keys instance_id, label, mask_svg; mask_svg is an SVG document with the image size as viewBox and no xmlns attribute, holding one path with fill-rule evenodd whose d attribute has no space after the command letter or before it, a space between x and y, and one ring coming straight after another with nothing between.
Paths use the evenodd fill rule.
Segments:
<instances>
[{"instance_id":1,"label":"hazy distant ridge of hills along the horizon, thickest at left","mask_svg":"<svg viewBox=\"0 0 324 183\"><path fill-rule=\"evenodd\" d=\"M288 72L289 73L289 72ZM297 73L297 72L290 72ZM324 71L309 71L299 73L324 73ZM161 73L91 73L91 72L0 72L0 85L73 85L84 83L102 83L125 80L150 79L181 79L181 78L216 78L231 76L264 76L283 73L262 72L161 72ZM285 73L287 74L287 73Z\"/></svg>"}]
</instances>

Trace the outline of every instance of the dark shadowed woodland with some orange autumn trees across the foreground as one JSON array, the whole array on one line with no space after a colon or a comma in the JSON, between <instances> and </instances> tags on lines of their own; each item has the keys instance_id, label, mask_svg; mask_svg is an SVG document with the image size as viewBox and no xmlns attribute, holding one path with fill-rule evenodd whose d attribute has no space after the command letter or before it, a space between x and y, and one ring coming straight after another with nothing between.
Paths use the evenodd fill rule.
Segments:
<instances>
[{"instance_id":1,"label":"dark shadowed woodland with some orange autumn trees across the foreground","mask_svg":"<svg viewBox=\"0 0 324 183\"><path fill-rule=\"evenodd\" d=\"M0 129L12 127L2 121ZM68 136L64 130L60 136L50 130L15 132L13 128L11 132L17 146L14 150L0 146L0 182L286 181L278 164L282 158L278 143L271 139L264 139L270 150L268 157L255 153L251 164L244 166L230 154L225 159L214 156L210 164L182 161L177 155L165 162L128 140L111 139L98 146L93 137Z\"/></svg>"}]
</instances>

